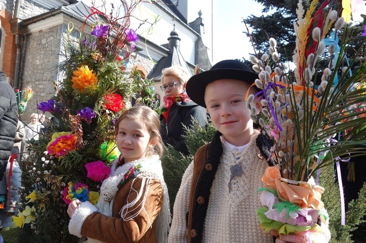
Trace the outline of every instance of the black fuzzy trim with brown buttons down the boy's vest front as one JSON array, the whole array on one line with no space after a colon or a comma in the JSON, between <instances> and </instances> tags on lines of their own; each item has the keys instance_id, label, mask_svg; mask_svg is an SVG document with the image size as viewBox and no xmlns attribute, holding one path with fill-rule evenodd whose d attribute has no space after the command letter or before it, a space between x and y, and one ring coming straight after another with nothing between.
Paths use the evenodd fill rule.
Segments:
<instances>
[{"instance_id":1,"label":"black fuzzy trim with brown buttons down the boy's vest front","mask_svg":"<svg viewBox=\"0 0 366 243\"><path fill-rule=\"evenodd\" d=\"M192 210L191 227L196 229L198 234L196 238L191 238L191 243L199 243L203 237L203 224L206 217L208 200L210 198L211 187L217 168L219 167L220 158L223 154L223 146L221 144L221 132L217 131L208 146L208 158L205 159L204 165L211 164L212 170L203 169L200 178L197 182L196 191L194 194L194 206ZM200 205L197 202L198 197L204 198L204 204Z\"/></svg>"}]
</instances>

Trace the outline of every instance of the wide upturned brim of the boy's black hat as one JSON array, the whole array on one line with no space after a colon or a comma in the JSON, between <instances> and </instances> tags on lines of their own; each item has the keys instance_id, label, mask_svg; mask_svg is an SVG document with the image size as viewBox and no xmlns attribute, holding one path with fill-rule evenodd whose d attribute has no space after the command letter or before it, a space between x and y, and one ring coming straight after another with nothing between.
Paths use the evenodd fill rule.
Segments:
<instances>
[{"instance_id":1,"label":"wide upturned brim of the boy's black hat","mask_svg":"<svg viewBox=\"0 0 366 243\"><path fill-rule=\"evenodd\" d=\"M219 79L236 79L252 85L257 78L258 74L253 72L232 68L220 68L192 76L188 80L185 90L191 100L206 108L204 104L204 92L209 83Z\"/></svg>"}]
</instances>

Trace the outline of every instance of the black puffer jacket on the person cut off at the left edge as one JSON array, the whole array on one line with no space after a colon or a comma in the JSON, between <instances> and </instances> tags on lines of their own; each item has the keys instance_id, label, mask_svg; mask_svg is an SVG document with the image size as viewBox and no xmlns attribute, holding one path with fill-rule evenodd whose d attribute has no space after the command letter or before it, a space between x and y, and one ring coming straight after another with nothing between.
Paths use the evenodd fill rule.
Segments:
<instances>
[{"instance_id":1,"label":"black puffer jacket on the person cut off at the left edge","mask_svg":"<svg viewBox=\"0 0 366 243\"><path fill-rule=\"evenodd\" d=\"M0 180L13 148L17 124L17 98L13 88L6 81L6 74L0 71Z\"/></svg>"}]
</instances>

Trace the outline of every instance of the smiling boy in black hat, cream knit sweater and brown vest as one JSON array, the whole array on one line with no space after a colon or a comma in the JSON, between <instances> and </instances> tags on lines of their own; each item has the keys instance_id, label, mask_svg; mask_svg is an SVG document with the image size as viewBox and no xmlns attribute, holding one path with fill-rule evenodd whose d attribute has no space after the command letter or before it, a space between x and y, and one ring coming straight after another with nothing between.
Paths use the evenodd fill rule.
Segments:
<instances>
[{"instance_id":1,"label":"smiling boy in black hat, cream knit sweater and brown vest","mask_svg":"<svg viewBox=\"0 0 366 243\"><path fill-rule=\"evenodd\" d=\"M260 228L256 214L261 206L257 189L264 186L261 178L265 169L273 166L264 153L270 142L253 129L246 108L248 89L258 92L255 86L250 88L257 78L244 63L224 60L188 80L187 94L207 109L218 131L196 152L183 175L169 243L273 242ZM260 101L256 107L260 112ZM328 238L329 234L322 242ZM276 243L283 242L305 241L297 235L276 239Z\"/></svg>"}]
</instances>

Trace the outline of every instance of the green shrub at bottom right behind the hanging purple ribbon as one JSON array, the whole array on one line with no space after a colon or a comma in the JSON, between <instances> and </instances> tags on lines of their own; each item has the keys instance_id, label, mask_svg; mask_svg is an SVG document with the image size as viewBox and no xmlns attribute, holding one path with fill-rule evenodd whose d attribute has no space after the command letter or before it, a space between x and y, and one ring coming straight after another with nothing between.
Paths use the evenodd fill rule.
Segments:
<instances>
[{"instance_id":1,"label":"green shrub at bottom right behind the hanging purple ribbon","mask_svg":"<svg viewBox=\"0 0 366 243\"><path fill-rule=\"evenodd\" d=\"M346 212L346 225L341 224L341 198L339 185L335 181L333 167L322 168L320 185L325 188L322 201L329 214L330 243L351 243L351 233L358 225L365 222L363 217L366 213L366 183L359 192L359 197L348 204Z\"/></svg>"}]
</instances>

